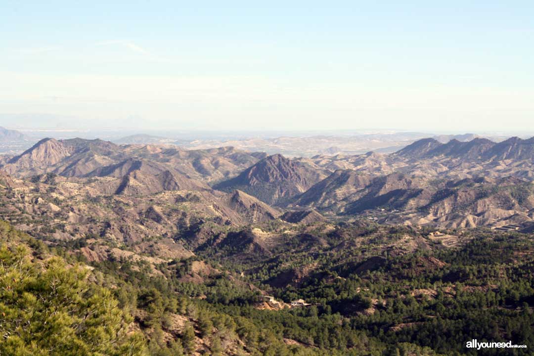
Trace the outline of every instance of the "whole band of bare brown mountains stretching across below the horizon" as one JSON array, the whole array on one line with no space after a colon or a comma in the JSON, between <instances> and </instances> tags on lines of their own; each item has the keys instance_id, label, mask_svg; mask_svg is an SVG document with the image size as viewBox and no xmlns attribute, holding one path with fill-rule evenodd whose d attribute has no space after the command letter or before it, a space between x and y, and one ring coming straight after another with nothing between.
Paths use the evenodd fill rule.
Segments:
<instances>
[{"instance_id":1,"label":"whole band of bare brown mountains stretching across below the horizon","mask_svg":"<svg viewBox=\"0 0 534 356\"><path fill-rule=\"evenodd\" d=\"M42 184L38 177L56 176L59 186L71 189L65 199L152 196L158 205L169 199L166 194L187 192L202 218L223 225L274 220L292 211L313 212L310 220L415 226L501 228L534 221L534 138L426 138L389 155L297 159L232 147L186 150L49 138L5 160L2 171Z\"/></svg>"}]
</instances>

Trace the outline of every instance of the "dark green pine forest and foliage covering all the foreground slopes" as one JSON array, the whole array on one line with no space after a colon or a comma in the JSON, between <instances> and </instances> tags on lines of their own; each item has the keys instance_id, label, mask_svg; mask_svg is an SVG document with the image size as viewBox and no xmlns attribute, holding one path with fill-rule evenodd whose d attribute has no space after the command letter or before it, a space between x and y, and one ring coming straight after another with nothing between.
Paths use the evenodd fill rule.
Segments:
<instances>
[{"instance_id":1,"label":"dark green pine forest and foliage covering all the foreground slopes","mask_svg":"<svg viewBox=\"0 0 534 356\"><path fill-rule=\"evenodd\" d=\"M48 248L0 223L0 355L501 354L466 349L470 338L524 343L528 349L509 354L529 354L531 236L480 231L458 248L378 252L406 233L398 227L369 235L366 252L347 247L312 258L303 249L249 261L238 268L254 271L246 283L220 264L221 274L192 282L184 279L193 273L190 259L156 266L110 259L89 268L76 262L73 247ZM209 255L214 264L232 264L224 256ZM380 263L361 270L370 257ZM310 263L316 270L298 287L262 284ZM278 300L311 305L258 310L262 298L252 283Z\"/></svg>"}]
</instances>

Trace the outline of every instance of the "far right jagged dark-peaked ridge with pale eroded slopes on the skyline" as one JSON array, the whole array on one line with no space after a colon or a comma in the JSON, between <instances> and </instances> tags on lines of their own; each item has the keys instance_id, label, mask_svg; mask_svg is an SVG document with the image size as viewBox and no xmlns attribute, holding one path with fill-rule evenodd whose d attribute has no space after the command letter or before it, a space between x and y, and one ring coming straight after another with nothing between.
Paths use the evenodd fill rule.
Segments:
<instances>
[{"instance_id":1,"label":"far right jagged dark-peaked ridge with pale eroded slopes on the skyline","mask_svg":"<svg viewBox=\"0 0 534 356\"><path fill-rule=\"evenodd\" d=\"M511 138L501 143L475 138L446 144L423 139L390 155L314 156L299 159L316 169L352 169L374 176L401 172L424 179L465 179L509 176L534 180L534 140Z\"/></svg>"}]
</instances>

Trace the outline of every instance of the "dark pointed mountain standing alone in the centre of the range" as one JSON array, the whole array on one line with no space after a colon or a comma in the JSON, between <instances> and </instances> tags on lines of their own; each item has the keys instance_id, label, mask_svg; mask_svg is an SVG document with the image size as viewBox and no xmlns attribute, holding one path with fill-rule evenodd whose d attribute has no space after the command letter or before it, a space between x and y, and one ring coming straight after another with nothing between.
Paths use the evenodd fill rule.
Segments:
<instances>
[{"instance_id":1,"label":"dark pointed mountain standing alone in the centre of the range","mask_svg":"<svg viewBox=\"0 0 534 356\"><path fill-rule=\"evenodd\" d=\"M279 205L305 192L324 177L320 170L276 154L265 157L237 177L214 185L214 188L223 191L239 189L263 202Z\"/></svg>"}]
</instances>

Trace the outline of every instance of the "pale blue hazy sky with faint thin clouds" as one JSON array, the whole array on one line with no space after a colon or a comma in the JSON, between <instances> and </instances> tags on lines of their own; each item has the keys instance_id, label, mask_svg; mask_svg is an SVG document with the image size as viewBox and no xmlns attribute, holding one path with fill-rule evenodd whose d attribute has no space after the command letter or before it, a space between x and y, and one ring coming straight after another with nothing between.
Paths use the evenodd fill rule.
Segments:
<instances>
[{"instance_id":1,"label":"pale blue hazy sky with faint thin clouds","mask_svg":"<svg viewBox=\"0 0 534 356\"><path fill-rule=\"evenodd\" d=\"M0 125L534 129L532 1L0 1Z\"/></svg>"}]
</instances>

